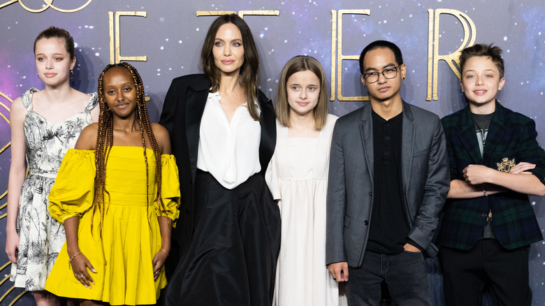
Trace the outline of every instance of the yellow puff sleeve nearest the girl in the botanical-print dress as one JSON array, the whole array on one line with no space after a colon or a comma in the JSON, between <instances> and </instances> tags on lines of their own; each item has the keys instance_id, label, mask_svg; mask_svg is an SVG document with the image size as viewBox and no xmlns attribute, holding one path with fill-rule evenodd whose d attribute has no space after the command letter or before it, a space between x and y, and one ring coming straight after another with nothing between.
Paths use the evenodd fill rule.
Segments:
<instances>
[{"instance_id":1,"label":"yellow puff sleeve nearest the girl in the botanical-print dress","mask_svg":"<svg viewBox=\"0 0 545 306\"><path fill-rule=\"evenodd\" d=\"M93 205L95 175L94 151L68 150L49 194L51 217L64 224L64 220L81 217L89 210Z\"/></svg>"}]
</instances>

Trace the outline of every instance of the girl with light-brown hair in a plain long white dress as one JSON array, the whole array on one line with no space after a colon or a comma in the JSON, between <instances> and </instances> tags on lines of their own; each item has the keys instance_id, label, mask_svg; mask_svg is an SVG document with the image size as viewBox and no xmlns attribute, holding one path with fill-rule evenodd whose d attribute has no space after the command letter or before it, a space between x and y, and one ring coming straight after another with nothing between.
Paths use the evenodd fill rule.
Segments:
<instances>
[{"instance_id":1,"label":"girl with light-brown hair in a plain long white dress","mask_svg":"<svg viewBox=\"0 0 545 306\"><path fill-rule=\"evenodd\" d=\"M297 56L286 63L276 114L277 145L266 173L282 217L273 305L337 306L339 289L326 267L329 150L337 117L328 115L319 61Z\"/></svg>"}]
</instances>

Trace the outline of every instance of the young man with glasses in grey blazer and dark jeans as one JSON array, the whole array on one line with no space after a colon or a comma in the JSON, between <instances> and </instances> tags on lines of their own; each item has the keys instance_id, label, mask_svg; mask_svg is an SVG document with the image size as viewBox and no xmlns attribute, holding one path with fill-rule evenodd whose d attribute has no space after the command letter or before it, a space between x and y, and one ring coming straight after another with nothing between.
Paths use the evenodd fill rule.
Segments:
<instances>
[{"instance_id":1,"label":"young man with glasses in grey blazer and dark jeans","mask_svg":"<svg viewBox=\"0 0 545 306\"><path fill-rule=\"evenodd\" d=\"M423 255L437 252L449 191L444 132L437 115L401 99L398 46L375 41L359 61L370 103L333 131L326 261L349 305L379 305L383 281L395 305L431 305Z\"/></svg>"}]
</instances>

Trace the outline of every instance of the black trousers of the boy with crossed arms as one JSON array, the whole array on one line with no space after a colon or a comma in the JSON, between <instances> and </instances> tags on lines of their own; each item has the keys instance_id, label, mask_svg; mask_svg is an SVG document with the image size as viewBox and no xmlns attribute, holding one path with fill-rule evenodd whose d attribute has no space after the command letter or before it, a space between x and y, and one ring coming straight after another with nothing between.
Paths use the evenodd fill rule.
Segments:
<instances>
[{"instance_id":1,"label":"black trousers of the boy with crossed arms","mask_svg":"<svg viewBox=\"0 0 545 306\"><path fill-rule=\"evenodd\" d=\"M495 239L479 240L467 251L441 247L446 305L482 305L483 289L488 285L498 305L530 306L529 254L530 247L505 249Z\"/></svg>"}]
</instances>

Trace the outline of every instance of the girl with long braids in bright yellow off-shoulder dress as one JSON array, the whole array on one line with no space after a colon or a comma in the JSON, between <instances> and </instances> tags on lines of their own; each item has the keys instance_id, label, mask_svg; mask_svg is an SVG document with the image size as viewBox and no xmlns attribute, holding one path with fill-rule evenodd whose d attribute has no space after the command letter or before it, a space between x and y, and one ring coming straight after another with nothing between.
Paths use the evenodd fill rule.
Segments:
<instances>
[{"instance_id":1,"label":"girl with long braids in bright yellow off-shoulder dress","mask_svg":"<svg viewBox=\"0 0 545 306\"><path fill-rule=\"evenodd\" d=\"M180 203L168 132L150 123L129 64L106 66L99 103L99 123L66 153L50 193L66 244L45 289L81 305L154 304Z\"/></svg>"}]
</instances>

